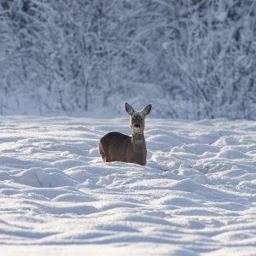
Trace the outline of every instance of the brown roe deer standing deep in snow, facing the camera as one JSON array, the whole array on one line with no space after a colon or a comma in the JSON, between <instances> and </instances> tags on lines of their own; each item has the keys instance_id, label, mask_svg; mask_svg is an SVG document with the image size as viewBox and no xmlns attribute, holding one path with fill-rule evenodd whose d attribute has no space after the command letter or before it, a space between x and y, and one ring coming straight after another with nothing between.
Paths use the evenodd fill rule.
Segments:
<instances>
[{"instance_id":1,"label":"brown roe deer standing deep in snow, facing the camera","mask_svg":"<svg viewBox=\"0 0 256 256\"><path fill-rule=\"evenodd\" d=\"M147 148L144 138L145 117L151 110L151 104L141 112L134 111L128 103L125 110L130 114L131 136L119 132L109 132L101 138L99 152L104 162L122 161L145 166Z\"/></svg>"}]
</instances>

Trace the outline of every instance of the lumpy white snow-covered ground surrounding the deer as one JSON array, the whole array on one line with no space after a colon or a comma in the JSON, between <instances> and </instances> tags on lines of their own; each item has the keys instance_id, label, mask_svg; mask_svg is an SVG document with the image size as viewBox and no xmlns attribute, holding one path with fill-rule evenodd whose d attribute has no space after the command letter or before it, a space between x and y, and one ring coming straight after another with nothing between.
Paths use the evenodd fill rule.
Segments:
<instances>
[{"instance_id":1,"label":"lumpy white snow-covered ground surrounding the deer","mask_svg":"<svg viewBox=\"0 0 256 256\"><path fill-rule=\"evenodd\" d=\"M149 117L147 166L99 158L128 116L1 117L0 130L1 255L255 255L253 121Z\"/></svg>"}]
</instances>

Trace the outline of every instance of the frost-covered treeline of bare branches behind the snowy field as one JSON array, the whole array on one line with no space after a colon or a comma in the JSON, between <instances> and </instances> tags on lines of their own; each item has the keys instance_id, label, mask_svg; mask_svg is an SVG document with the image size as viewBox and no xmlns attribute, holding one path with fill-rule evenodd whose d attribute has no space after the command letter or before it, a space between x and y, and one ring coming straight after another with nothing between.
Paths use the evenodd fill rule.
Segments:
<instances>
[{"instance_id":1,"label":"frost-covered treeline of bare branches behind the snowy field","mask_svg":"<svg viewBox=\"0 0 256 256\"><path fill-rule=\"evenodd\" d=\"M255 61L253 0L0 1L1 114L256 119Z\"/></svg>"}]
</instances>

